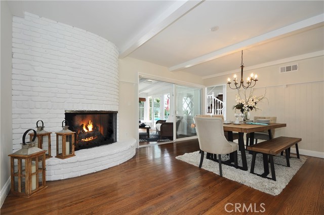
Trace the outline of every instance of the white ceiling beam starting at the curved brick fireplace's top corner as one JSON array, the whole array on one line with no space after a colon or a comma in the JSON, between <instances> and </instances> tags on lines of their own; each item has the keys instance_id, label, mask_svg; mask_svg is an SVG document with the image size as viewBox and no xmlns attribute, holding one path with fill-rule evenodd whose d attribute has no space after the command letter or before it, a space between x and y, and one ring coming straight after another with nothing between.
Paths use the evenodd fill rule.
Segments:
<instances>
[{"instance_id":1,"label":"white ceiling beam starting at the curved brick fireplace's top corner","mask_svg":"<svg viewBox=\"0 0 324 215\"><path fill-rule=\"evenodd\" d=\"M167 11L160 14L145 29L133 37L119 50L119 58L123 59L142 46L146 41L164 30L173 22L197 7L204 1L176 1Z\"/></svg>"}]
</instances>

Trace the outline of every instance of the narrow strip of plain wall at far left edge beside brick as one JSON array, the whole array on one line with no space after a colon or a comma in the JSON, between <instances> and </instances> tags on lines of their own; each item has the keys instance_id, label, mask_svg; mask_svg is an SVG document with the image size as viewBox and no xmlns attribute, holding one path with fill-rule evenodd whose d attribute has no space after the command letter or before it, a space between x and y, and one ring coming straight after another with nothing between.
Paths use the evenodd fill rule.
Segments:
<instances>
[{"instance_id":1,"label":"narrow strip of plain wall at far left edge beside brick","mask_svg":"<svg viewBox=\"0 0 324 215\"><path fill-rule=\"evenodd\" d=\"M0 73L0 197L2 206L9 192L10 184L10 158L12 151L12 92L11 92L11 70L12 70L12 14L7 2L1 1L1 73Z\"/></svg>"}]
</instances>

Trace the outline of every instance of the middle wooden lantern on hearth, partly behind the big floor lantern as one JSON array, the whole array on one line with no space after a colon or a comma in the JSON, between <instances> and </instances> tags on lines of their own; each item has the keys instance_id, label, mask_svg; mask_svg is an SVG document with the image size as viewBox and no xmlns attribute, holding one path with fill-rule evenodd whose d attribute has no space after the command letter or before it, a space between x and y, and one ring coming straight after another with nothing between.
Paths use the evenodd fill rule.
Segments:
<instances>
[{"instance_id":1,"label":"middle wooden lantern on hearth, partly behind the big floor lantern","mask_svg":"<svg viewBox=\"0 0 324 215\"><path fill-rule=\"evenodd\" d=\"M38 122L42 122L42 126L38 126ZM52 132L47 132L44 130L44 122L38 120L36 122L36 139L35 142L38 143L38 148L46 150L46 159L51 158L51 134ZM29 141L34 138L34 133L29 133Z\"/></svg>"}]
</instances>

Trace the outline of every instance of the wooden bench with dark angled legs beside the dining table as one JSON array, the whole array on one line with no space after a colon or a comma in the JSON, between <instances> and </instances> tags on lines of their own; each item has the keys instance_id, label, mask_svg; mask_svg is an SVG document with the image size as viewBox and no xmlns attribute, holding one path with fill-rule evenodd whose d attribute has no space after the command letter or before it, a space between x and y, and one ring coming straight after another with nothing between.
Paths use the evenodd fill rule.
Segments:
<instances>
[{"instance_id":1,"label":"wooden bench with dark angled legs beside the dining table","mask_svg":"<svg viewBox=\"0 0 324 215\"><path fill-rule=\"evenodd\" d=\"M275 171L274 171L274 163L273 163L273 155L276 155L280 152L285 151L286 153L286 160L287 160L287 166L290 167L290 147L296 146L296 153L297 158L299 158L299 151L298 151L298 143L302 141L301 138L290 138L290 137L277 137L271 140L267 140L252 146L248 146L248 150L253 152L252 157L252 163L251 163L251 173L254 173L254 166L255 166L255 159L257 152L262 153L263 156L263 168L264 173L258 176L261 176L263 178L272 179L273 181L276 181L275 179ZM268 155L269 155L269 162L271 166L271 175L272 178L268 178L267 175L269 174L269 165L268 165Z\"/></svg>"}]
</instances>

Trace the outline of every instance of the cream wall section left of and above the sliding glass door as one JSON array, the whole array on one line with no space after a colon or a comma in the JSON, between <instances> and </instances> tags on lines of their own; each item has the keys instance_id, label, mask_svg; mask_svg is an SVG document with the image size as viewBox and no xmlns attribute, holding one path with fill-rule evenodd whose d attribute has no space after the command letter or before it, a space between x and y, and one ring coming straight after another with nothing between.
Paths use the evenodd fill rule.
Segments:
<instances>
[{"instance_id":1,"label":"cream wall section left of and above the sliding glass door","mask_svg":"<svg viewBox=\"0 0 324 215\"><path fill-rule=\"evenodd\" d=\"M119 60L119 138L138 139L138 73L168 79L170 82L202 84L199 76L182 71L170 72L167 67L134 58Z\"/></svg>"}]
</instances>

